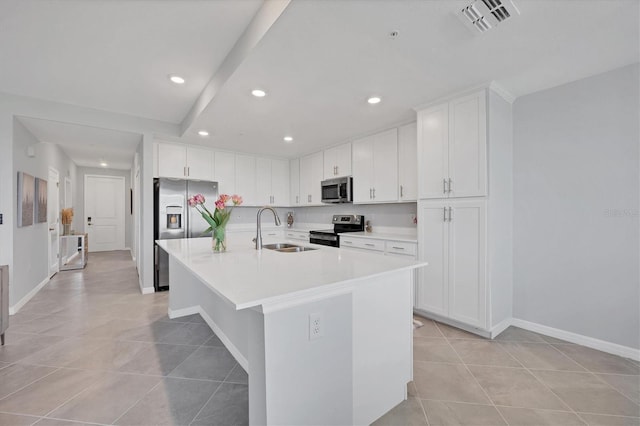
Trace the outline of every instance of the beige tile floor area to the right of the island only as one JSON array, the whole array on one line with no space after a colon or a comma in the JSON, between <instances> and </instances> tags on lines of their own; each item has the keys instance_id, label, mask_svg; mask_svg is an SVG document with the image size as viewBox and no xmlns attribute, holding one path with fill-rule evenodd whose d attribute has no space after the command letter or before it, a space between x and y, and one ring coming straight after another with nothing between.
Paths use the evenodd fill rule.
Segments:
<instances>
[{"instance_id":1,"label":"beige tile floor area to the right of the island only","mask_svg":"<svg viewBox=\"0 0 640 426\"><path fill-rule=\"evenodd\" d=\"M418 319L409 399L376 425L640 425L635 361L515 327L489 341Z\"/></svg>"}]
</instances>

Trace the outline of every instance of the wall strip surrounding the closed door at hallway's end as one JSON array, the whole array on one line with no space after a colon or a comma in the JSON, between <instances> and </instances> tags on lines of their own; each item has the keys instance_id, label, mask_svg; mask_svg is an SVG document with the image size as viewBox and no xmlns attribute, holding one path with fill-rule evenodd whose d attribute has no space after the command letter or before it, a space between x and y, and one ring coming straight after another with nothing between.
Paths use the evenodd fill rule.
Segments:
<instances>
[{"instance_id":1,"label":"wall strip surrounding the closed door at hallway's end","mask_svg":"<svg viewBox=\"0 0 640 426\"><path fill-rule=\"evenodd\" d=\"M76 200L74 200L74 229L86 232L86 218L84 217L84 177L86 175L119 176L124 177L124 245L126 248L133 247L133 216L131 215L131 170L101 169L92 167L78 167L78 179L76 180Z\"/></svg>"}]
</instances>

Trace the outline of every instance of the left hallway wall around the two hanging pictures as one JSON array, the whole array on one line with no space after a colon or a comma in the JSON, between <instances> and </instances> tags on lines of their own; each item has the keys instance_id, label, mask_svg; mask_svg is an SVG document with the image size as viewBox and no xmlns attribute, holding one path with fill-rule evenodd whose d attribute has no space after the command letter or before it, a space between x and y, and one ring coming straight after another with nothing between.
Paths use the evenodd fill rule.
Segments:
<instances>
[{"instance_id":1,"label":"left hallway wall around the two hanging pictures","mask_svg":"<svg viewBox=\"0 0 640 426\"><path fill-rule=\"evenodd\" d=\"M76 165L57 145L40 143L17 119L13 120L13 199L17 200L17 172L25 172L42 179L49 179L49 167L55 168L60 175L58 189L60 206L64 199L64 178L76 180ZM28 146L35 148L35 157L28 157ZM74 204L77 201L74 200ZM52 206L49 205L49 208ZM12 275L13 283L9 287L9 305L14 306L39 283L49 277L49 236L48 224L34 223L22 228L13 224L13 256L21 261L15 262Z\"/></svg>"}]
</instances>

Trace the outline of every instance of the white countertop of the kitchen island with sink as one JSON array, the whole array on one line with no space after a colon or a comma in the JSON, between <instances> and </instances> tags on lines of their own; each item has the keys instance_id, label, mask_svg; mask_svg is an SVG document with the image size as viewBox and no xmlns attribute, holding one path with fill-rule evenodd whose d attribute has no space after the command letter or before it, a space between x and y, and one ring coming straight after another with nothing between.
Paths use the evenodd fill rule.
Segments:
<instances>
[{"instance_id":1,"label":"white countertop of the kitchen island with sink","mask_svg":"<svg viewBox=\"0 0 640 426\"><path fill-rule=\"evenodd\" d=\"M281 253L269 249L258 251L251 243L232 240L228 251L214 253L210 238L158 240L157 243L236 310L316 297L356 282L364 285L362 278L427 265L412 259L315 244L299 245L317 250Z\"/></svg>"}]
</instances>

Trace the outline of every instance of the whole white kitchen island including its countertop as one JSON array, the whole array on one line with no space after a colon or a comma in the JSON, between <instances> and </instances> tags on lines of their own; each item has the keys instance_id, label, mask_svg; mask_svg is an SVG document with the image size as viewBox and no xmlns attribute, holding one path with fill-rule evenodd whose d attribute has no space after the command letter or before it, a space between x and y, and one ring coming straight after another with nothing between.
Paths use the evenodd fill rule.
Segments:
<instances>
[{"instance_id":1,"label":"whole white kitchen island including its countertop","mask_svg":"<svg viewBox=\"0 0 640 426\"><path fill-rule=\"evenodd\" d=\"M249 374L252 425L370 424L413 377L413 260L163 240L169 316L199 313Z\"/></svg>"}]
</instances>

